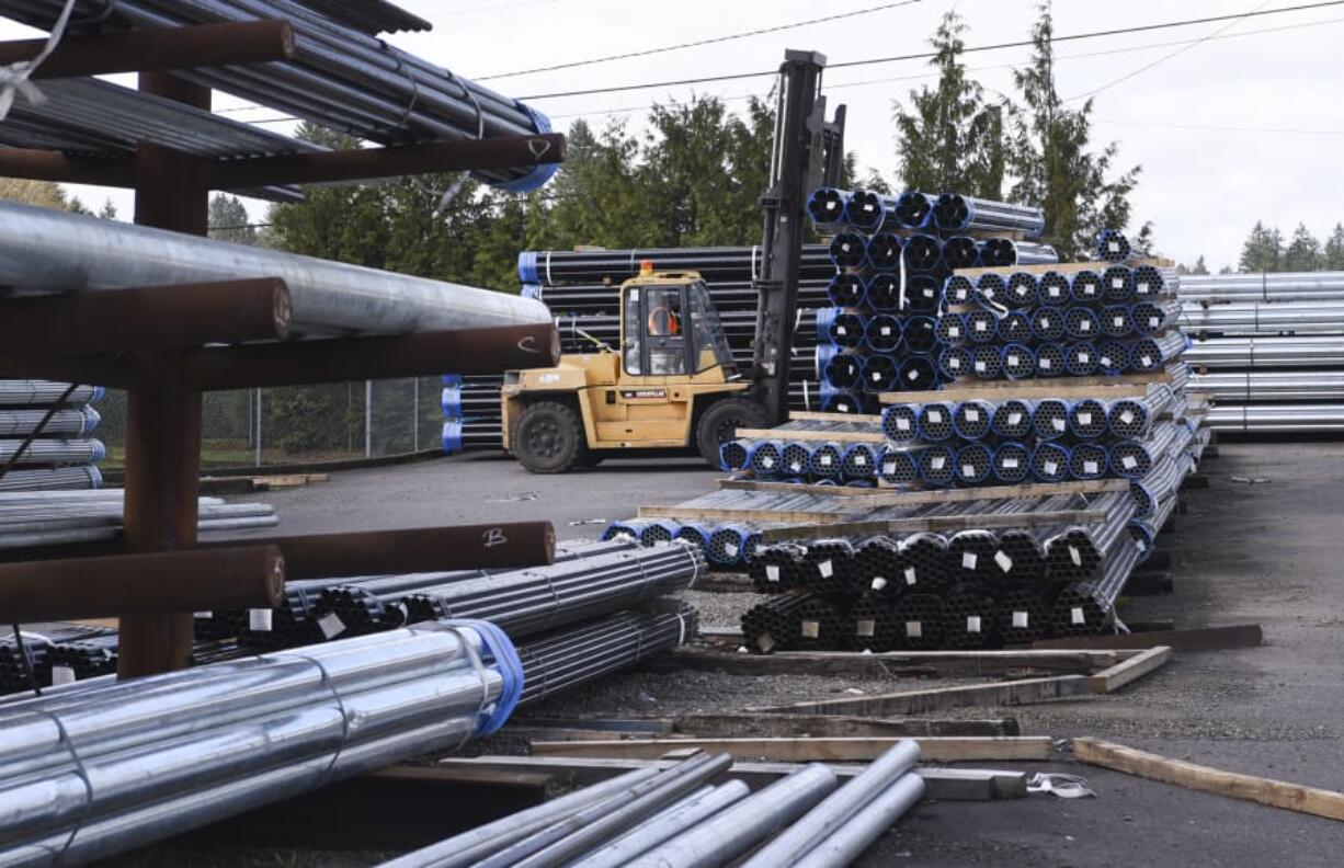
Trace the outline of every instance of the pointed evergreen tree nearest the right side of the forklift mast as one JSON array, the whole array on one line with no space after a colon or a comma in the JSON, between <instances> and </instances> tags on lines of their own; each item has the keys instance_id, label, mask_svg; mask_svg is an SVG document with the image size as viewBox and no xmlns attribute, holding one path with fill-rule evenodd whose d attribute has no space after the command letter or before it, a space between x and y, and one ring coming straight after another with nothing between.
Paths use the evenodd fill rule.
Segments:
<instances>
[{"instance_id":1,"label":"pointed evergreen tree nearest the right side of the forklift mast","mask_svg":"<svg viewBox=\"0 0 1344 868\"><path fill-rule=\"evenodd\" d=\"M930 44L938 85L910 91L910 107L894 105L896 159L907 188L1001 199L1004 181L1003 107L985 102L984 89L962 63L965 20L949 11Z\"/></svg>"}]
</instances>

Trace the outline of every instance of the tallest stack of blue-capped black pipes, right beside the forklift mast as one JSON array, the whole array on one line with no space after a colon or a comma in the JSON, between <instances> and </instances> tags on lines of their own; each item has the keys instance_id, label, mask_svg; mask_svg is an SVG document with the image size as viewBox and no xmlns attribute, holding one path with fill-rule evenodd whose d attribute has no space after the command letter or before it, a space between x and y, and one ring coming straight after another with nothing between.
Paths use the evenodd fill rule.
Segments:
<instances>
[{"instance_id":1,"label":"tallest stack of blue-capped black pipes, right beside the forklift mast","mask_svg":"<svg viewBox=\"0 0 1344 868\"><path fill-rule=\"evenodd\" d=\"M1043 245L982 236L1039 235L1038 208L825 187L812 193L808 215L832 234L832 306L814 317L816 376L828 411L876 413L880 392L923 391L948 379L935 317L953 270L1058 261Z\"/></svg>"}]
</instances>

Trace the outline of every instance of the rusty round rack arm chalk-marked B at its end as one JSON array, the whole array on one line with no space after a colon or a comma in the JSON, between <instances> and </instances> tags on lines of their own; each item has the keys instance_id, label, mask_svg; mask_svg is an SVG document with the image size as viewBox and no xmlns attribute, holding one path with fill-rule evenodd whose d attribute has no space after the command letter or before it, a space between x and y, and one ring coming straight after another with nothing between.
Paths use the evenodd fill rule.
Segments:
<instances>
[{"instance_id":1,"label":"rusty round rack arm chalk-marked B at its end","mask_svg":"<svg viewBox=\"0 0 1344 868\"><path fill-rule=\"evenodd\" d=\"M280 536L204 543L200 548L211 551L258 543L274 546L285 555L285 574L290 580L512 570L555 562L555 528L550 521Z\"/></svg>"}]
</instances>

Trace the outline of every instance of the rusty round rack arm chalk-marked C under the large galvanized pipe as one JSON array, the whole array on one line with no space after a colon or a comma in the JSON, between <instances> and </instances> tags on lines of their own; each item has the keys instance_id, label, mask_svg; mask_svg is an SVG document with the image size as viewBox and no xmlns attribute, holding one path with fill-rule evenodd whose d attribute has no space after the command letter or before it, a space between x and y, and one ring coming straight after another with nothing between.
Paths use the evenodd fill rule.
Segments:
<instances>
[{"instance_id":1,"label":"rusty round rack arm chalk-marked C under the large galvanized pipe","mask_svg":"<svg viewBox=\"0 0 1344 868\"><path fill-rule=\"evenodd\" d=\"M497 374L547 368L559 359L560 339L555 325L540 322L391 337L206 348L187 353L184 365L199 388L219 391L431 376L442 371Z\"/></svg>"}]
</instances>

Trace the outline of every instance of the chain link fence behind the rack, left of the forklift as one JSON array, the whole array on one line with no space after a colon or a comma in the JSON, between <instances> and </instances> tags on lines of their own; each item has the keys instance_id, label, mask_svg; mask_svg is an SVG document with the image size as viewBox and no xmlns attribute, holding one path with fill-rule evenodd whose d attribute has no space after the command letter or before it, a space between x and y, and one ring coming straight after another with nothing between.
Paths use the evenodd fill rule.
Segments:
<instances>
[{"instance_id":1,"label":"chain link fence behind the rack, left of the forklift","mask_svg":"<svg viewBox=\"0 0 1344 868\"><path fill-rule=\"evenodd\" d=\"M441 450L441 378L367 380L207 392L202 406L203 468L265 468L383 458ZM105 470L121 469L126 392L98 403Z\"/></svg>"}]
</instances>

